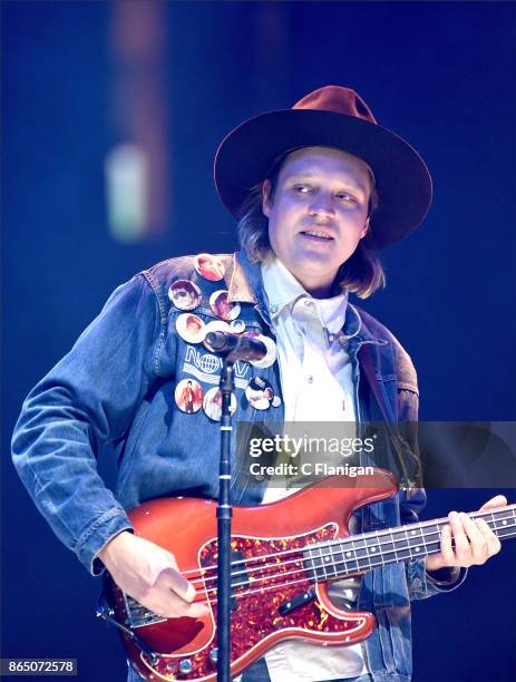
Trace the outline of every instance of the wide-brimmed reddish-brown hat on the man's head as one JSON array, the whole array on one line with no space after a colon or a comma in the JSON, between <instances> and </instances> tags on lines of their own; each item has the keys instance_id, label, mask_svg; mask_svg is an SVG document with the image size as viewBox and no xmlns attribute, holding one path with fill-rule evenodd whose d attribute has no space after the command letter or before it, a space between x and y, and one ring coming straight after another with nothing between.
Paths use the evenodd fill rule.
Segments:
<instances>
[{"instance_id":1,"label":"wide-brimmed reddish-brown hat on the man's head","mask_svg":"<svg viewBox=\"0 0 516 682\"><path fill-rule=\"evenodd\" d=\"M371 244L383 249L410 234L428 213L431 177L405 139L377 124L352 89L325 86L292 109L267 111L234 128L215 155L215 185L240 218L250 189L269 177L278 159L300 147L334 147L372 169L380 203L370 223Z\"/></svg>"}]
</instances>

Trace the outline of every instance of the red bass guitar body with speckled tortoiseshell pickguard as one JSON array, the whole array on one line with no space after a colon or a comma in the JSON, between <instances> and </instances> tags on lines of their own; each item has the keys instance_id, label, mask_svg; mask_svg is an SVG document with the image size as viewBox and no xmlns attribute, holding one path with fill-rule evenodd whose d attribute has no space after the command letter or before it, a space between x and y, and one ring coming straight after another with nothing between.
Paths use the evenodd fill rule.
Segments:
<instances>
[{"instance_id":1,"label":"red bass guitar body with speckled tortoiseshell pickguard","mask_svg":"<svg viewBox=\"0 0 516 682\"><path fill-rule=\"evenodd\" d=\"M340 611L328 596L328 583L310 581L303 567L302 548L347 537L354 509L391 497L396 491L395 478L377 469L373 476L334 476L270 505L233 509L232 551L244 561L253 559L254 566L260 557L269 558L263 559L264 568L257 574L260 587L253 588L251 578L245 585L233 588L232 675L242 672L280 640L300 637L325 645L342 645L354 644L371 634L374 617L370 613ZM199 576L202 571L201 583L210 585L211 578L213 585L217 555L215 512L216 503L212 500L171 498L143 504L129 516L136 534L172 552L187 578L192 579L192 572ZM295 553L296 549L300 552ZM291 551L291 556L300 557L299 561L271 564L271 555ZM267 575L271 576L269 583ZM314 598L282 615L280 606L284 612L309 591ZM203 588L198 592L203 594ZM123 635L128 657L145 679L216 679L216 595L210 592L206 595L211 613L204 618L154 618L154 622L150 620L133 627L135 634L158 654L155 662L143 654L130 637ZM134 626L130 604L110 578L107 596L117 621ZM179 670L182 661L183 672Z\"/></svg>"}]
</instances>

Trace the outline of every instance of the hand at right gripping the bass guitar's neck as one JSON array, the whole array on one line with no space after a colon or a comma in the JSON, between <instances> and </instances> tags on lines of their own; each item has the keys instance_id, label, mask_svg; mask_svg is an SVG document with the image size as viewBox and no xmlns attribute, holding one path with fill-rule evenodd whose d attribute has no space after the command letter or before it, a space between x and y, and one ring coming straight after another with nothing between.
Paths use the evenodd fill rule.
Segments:
<instances>
[{"instance_id":1,"label":"hand at right gripping the bass guitar's neck","mask_svg":"<svg viewBox=\"0 0 516 682\"><path fill-rule=\"evenodd\" d=\"M483 509L505 507L507 499L497 495ZM427 557L426 568L429 572L451 566L474 566L485 564L500 551L500 542L483 518L471 519L467 514L450 512L449 525L441 529L440 553ZM455 540L455 548L451 540Z\"/></svg>"}]
</instances>

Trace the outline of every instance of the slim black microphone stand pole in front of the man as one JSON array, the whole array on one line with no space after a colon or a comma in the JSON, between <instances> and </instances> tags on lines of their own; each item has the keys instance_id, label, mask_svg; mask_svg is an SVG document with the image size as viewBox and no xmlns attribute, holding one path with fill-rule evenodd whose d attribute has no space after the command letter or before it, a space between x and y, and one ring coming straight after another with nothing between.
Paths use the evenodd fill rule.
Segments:
<instances>
[{"instance_id":1,"label":"slim black microphone stand pole in front of the man","mask_svg":"<svg viewBox=\"0 0 516 682\"><path fill-rule=\"evenodd\" d=\"M222 418L217 504L217 682L230 682L231 664L231 397L235 389L233 360L224 358L221 374Z\"/></svg>"}]
</instances>

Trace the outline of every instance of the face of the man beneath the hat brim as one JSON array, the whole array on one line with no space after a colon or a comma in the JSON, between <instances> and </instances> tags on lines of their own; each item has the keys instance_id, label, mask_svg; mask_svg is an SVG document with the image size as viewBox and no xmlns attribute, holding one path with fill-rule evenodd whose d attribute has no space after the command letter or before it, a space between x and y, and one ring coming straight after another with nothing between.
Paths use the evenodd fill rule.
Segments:
<instances>
[{"instance_id":1,"label":"face of the man beneath the hat brim","mask_svg":"<svg viewBox=\"0 0 516 682\"><path fill-rule=\"evenodd\" d=\"M276 256L315 296L328 296L339 267L368 231L370 173L357 156L325 147L289 154L263 186L263 213Z\"/></svg>"}]
</instances>

